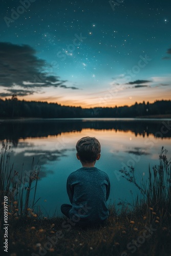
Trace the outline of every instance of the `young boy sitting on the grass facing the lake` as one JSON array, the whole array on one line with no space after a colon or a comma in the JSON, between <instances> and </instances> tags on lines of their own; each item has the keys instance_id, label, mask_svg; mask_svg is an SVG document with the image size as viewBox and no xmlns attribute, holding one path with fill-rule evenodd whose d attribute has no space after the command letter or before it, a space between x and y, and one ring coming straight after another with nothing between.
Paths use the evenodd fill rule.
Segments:
<instances>
[{"instance_id":1,"label":"young boy sitting on the grass facing the lake","mask_svg":"<svg viewBox=\"0 0 171 256\"><path fill-rule=\"evenodd\" d=\"M100 143L94 137L83 137L78 140L76 150L82 167L68 177L67 193L72 205L62 204L61 212L81 226L103 223L109 216L106 201L110 181L106 173L94 167L100 158Z\"/></svg>"}]
</instances>

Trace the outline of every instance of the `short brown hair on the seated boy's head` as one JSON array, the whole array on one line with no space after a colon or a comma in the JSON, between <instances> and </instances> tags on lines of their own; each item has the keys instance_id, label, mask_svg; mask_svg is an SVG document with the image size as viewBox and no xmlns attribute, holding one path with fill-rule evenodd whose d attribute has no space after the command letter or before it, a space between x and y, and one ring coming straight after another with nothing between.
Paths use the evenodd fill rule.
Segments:
<instances>
[{"instance_id":1,"label":"short brown hair on the seated boy's head","mask_svg":"<svg viewBox=\"0 0 171 256\"><path fill-rule=\"evenodd\" d=\"M78 140L76 150L82 162L94 162L101 152L101 146L95 137L87 136Z\"/></svg>"}]
</instances>

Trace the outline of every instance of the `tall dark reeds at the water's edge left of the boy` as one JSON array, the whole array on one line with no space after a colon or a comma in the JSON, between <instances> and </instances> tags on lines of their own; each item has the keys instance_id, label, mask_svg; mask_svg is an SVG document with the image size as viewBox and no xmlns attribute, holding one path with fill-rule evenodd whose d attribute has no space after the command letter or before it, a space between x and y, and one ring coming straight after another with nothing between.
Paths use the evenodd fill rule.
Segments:
<instances>
[{"instance_id":1,"label":"tall dark reeds at the water's edge left of the boy","mask_svg":"<svg viewBox=\"0 0 171 256\"><path fill-rule=\"evenodd\" d=\"M28 208L32 209L31 216L35 216L34 209L36 203L36 188L39 179L40 166L34 165L34 158L31 168L24 172L24 164L21 172L14 170L14 164L10 164L11 146L2 143L1 161L0 161L0 198L4 202L4 197L8 197L8 214L9 218L14 217L27 218L29 216ZM31 217L30 216L30 217ZM0 209L0 220L3 218L3 203Z\"/></svg>"}]
</instances>

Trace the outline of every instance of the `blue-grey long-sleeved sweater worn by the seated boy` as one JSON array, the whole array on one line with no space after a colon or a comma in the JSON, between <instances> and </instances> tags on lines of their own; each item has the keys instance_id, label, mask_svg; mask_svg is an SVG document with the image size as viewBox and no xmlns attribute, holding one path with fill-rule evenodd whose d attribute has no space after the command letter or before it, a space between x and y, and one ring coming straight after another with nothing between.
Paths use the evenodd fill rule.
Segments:
<instances>
[{"instance_id":1,"label":"blue-grey long-sleeved sweater worn by the seated boy","mask_svg":"<svg viewBox=\"0 0 171 256\"><path fill-rule=\"evenodd\" d=\"M109 177L96 167L82 167L71 173L67 193L72 204L70 218L80 222L101 222L108 218L106 201L110 194Z\"/></svg>"}]
</instances>

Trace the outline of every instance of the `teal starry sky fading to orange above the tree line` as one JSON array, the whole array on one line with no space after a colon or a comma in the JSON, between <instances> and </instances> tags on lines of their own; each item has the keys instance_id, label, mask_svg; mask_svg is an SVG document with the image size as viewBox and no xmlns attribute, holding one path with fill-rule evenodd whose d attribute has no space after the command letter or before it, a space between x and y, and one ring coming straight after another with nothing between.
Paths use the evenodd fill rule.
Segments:
<instances>
[{"instance_id":1,"label":"teal starry sky fading to orange above the tree line","mask_svg":"<svg viewBox=\"0 0 171 256\"><path fill-rule=\"evenodd\" d=\"M170 0L1 0L0 97L121 106L170 99Z\"/></svg>"}]
</instances>

